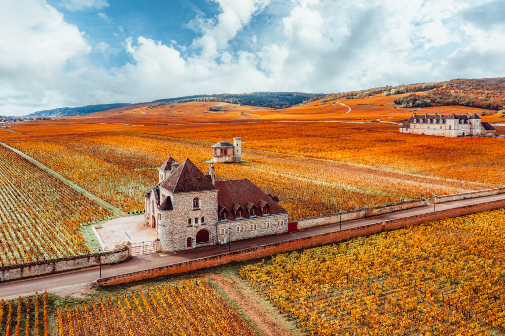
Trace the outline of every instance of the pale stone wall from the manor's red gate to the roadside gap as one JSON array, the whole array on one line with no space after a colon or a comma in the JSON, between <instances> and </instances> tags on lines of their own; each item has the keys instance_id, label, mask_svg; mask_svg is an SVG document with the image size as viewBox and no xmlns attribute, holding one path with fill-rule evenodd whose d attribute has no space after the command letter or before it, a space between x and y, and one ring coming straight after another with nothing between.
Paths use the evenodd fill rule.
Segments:
<instances>
[{"instance_id":1,"label":"pale stone wall from the manor's red gate to the roadside gap","mask_svg":"<svg viewBox=\"0 0 505 336\"><path fill-rule=\"evenodd\" d=\"M387 206L378 207L375 209L360 209L354 211L342 212L342 221L354 220L359 218L365 218L370 216L375 216L378 214L389 213L399 210L405 210L410 208L415 208L418 206L426 205L426 201L423 199L415 199L412 201L399 202L396 204L391 204ZM338 223L340 221L340 214L331 214L326 216L317 216L310 218L303 218L298 220L298 230L304 230L314 227L320 227L323 225L328 225L332 223Z\"/></svg>"}]
</instances>

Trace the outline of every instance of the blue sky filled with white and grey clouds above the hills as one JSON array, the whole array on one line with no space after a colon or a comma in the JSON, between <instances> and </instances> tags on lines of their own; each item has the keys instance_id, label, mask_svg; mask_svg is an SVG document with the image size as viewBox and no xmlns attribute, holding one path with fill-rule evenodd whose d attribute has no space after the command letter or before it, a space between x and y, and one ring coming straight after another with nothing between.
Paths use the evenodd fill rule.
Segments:
<instances>
[{"instance_id":1,"label":"blue sky filled with white and grey clouds above the hills","mask_svg":"<svg viewBox=\"0 0 505 336\"><path fill-rule=\"evenodd\" d=\"M505 77L505 0L0 0L0 115Z\"/></svg>"}]
</instances>

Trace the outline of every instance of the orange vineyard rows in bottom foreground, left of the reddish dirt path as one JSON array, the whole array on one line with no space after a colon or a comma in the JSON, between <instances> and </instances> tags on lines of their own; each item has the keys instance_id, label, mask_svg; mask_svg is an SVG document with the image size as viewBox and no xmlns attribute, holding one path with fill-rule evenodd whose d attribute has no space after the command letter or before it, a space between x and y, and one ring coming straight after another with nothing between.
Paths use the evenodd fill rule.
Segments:
<instances>
[{"instance_id":1,"label":"orange vineyard rows in bottom foreground, left of the reddish dirt path","mask_svg":"<svg viewBox=\"0 0 505 336\"><path fill-rule=\"evenodd\" d=\"M58 335L256 335L204 279L58 308Z\"/></svg>"}]
</instances>

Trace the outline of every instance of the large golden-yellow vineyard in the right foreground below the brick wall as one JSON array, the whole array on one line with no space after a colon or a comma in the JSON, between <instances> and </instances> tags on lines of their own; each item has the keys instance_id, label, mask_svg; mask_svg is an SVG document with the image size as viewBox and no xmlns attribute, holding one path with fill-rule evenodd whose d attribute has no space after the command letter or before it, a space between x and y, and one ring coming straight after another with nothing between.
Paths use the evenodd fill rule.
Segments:
<instances>
[{"instance_id":1,"label":"large golden-yellow vineyard in the right foreground below the brick wall","mask_svg":"<svg viewBox=\"0 0 505 336\"><path fill-rule=\"evenodd\" d=\"M505 334L505 209L279 254L240 270L311 335Z\"/></svg>"}]
</instances>

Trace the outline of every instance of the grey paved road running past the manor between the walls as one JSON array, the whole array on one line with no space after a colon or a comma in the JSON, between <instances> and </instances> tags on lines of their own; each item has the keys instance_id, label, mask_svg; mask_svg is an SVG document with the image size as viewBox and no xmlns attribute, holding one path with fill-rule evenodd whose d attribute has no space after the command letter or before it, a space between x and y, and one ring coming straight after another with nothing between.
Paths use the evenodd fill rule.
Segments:
<instances>
[{"instance_id":1,"label":"grey paved road running past the manor between the walls","mask_svg":"<svg viewBox=\"0 0 505 336\"><path fill-rule=\"evenodd\" d=\"M436 205L436 210L438 211L438 210L457 208L460 206L479 204L501 199L505 199L505 194L441 203ZM342 223L342 230L357 228L384 220L403 218L429 212L433 212L433 205L401 210L392 213L386 213L374 217L350 220ZM232 243L231 250L238 251L250 247L255 247L258 245L288 241L301 237L310 237L323 233L335 232L338 230L339 230L339 223L335 223L323 227L291 232L280 236L265 236L256 239L250 239ZM226 245L226 246L199 248L174 254L153 253L148 255L135 256L119 264L102 266L102 276L104 277L112 276L142 269L164 266L181 261L187 261L191 259L222 254L228 252L228 249L229 246ZM43 275L28 279L16 280L0 284L0 298L8 298L17 295L34 293L35 291L43 292L44 290L63 286L91 283L93 281L96 281L98 277L99 277L99 269L97 266L95 266L57 274Z\"/></svg>"}]
</instances>

